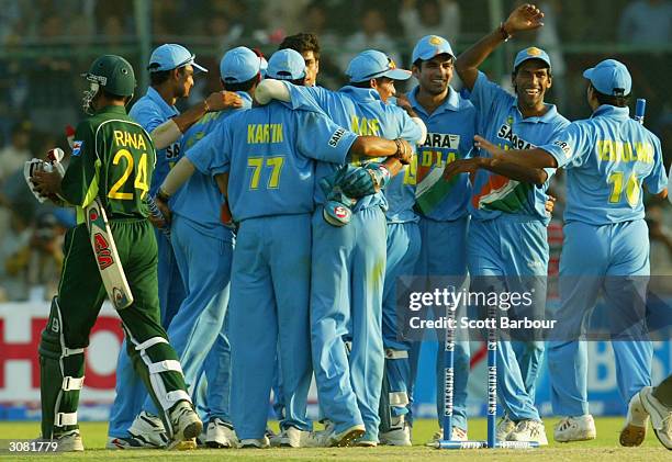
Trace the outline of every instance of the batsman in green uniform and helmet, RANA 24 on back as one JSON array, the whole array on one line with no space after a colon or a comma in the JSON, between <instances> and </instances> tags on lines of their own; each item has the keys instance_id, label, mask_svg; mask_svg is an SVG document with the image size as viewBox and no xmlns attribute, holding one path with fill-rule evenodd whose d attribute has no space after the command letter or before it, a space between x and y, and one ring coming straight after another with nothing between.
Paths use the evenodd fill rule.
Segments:
<instances>
[{"instance_id":1,"label":"batsman in green uniform and helmet, RANA 24 on back","mask_svg":"<svg viewBox=\"0 0 672 462\"><path fill-rule=\"evenodd\" d=\"M157 244L146 205L156 151L147 132L126 115L125 104L135 88L131 65L120 56L104 55L82 76L91 84L83 99L90 116L77 127L70 165L63 179L51 172L35 172L32 178L42 194L75 206L78 218L66 235L58 295L40 342L42 437L57 440L60 450L83 450L77 425L83 350L105 297L99 273L105 256L98 247L94 256L85 214L98 199L134 298L119 311L128 354L163 412L171 446L177 446L192 441L202 422L159 322Z\"/></svg>"}]
</instances>

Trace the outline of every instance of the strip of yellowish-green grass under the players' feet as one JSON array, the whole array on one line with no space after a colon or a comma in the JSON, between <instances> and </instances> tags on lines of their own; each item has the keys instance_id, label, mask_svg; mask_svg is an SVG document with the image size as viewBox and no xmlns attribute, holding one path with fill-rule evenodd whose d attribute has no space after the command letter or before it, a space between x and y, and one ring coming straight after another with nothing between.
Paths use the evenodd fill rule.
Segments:
<instances>
[{"instance_id":1,"label":"strip of yellowish-green grass under the players' feet","mask_svg":"<svg viewBox=\"0 0 672 462\"><path fill-rule=\"evenodd\" d=\"M555 420L546 420L549 440L552 440L552 426ZM108 451L104 450L107 441L107 422L83 422L81 433L87 450L83 454L58 454L59 461L126 461L157 458L160 461L210 461L210 460L244 460L244 461L384 461L423 462L440 461L450 458L450 461L496 460L496 461L569 461L590 460L627 460L627 461L670 461L672 454L665 450L649 429L647 439L640 448L621 448L618 444L618 432L621 418L600 418L596 420L597 439L594 441L561 444L550 441L549 447L526 451L512 450L462 450L447 451L426 448L423 444L429 440L437 426L434 420L416 422L413 432L413 448L379 447L367 448L325 448L325 449L267 449L267 450L213 450L199 449L197 451ZM472 439L485 439L485 420L471 419L469 421L469 436ZM29 439L35 438L40 432L37 422L0 422L0 439ZM45 460L45 455L10 455L0 454L0 460L31 461Z\"/></svg>"}]
</instances>

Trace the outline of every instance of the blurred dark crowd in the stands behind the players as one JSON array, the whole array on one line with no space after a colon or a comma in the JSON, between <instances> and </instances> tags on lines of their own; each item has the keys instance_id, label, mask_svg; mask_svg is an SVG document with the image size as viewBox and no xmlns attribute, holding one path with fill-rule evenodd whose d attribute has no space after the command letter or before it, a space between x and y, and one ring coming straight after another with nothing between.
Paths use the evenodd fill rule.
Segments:
<instances>
[{"instance_id":1,"label":"blurred dark crowd in the stands behind the players","mask_svg":"<svg viewBox=\"0 0 672 462\"><path fill-rule=\"evenodd\" d=\"M457 54L488 33L518 1L511 0L0 0L0 301L49 296L63 260L71 212L38 204L25 187L23 164L54 146L66 148L64 127L81 119L79 75L103 53L126 57L139 77L142 58L163 43L180 43L211 69L197 79L190 104L219 89L219 60L237 45L267 56L288 34L316 33L318 84L337 89L344 70L365 48L388 53L410 68L415 42L448 38ZM553 88L547 101L570 120L590 115L583 69L605 57L628 65L632 99L648 100L647 126L672 155L672 1L541 0L545 26L516 36L485 63L491 78L509 84L514 54L547 49ZM142 80L141 81L146 81ZM408 81L410 90L415 84ZM458 89L457 77L452 87ZM144 94L138 88L136 97ZM634 100L632 100L634 102ZM67 149L65 149L67 151ZM553 192L561 219L562 176ZM672 274L672 213L648 204L652 274ZM552 233L551 233L552 235ZM558 247L558 246L556 246ZM559 248L559 247L558 247ZM46 291L35 294L35 288Z\"/></svg>"}]
</instances>

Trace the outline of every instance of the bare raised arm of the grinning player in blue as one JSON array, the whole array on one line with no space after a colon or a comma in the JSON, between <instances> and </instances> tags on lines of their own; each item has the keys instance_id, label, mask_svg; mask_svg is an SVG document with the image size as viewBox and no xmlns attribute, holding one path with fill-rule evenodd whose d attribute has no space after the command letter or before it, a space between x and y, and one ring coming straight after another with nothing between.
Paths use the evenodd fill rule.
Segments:
<instances>
[{"instance_id":1,"label":"bare raised arm of the grinning player in blue","mask_svg":"<svg viewBox=\"0 0 672 462\"><path fill-rule=\"evenodd\" d=\"M509 40L517 32L541 27L542 20L544 13L536 5L523 4L516 8L497 29L462 53L455 63L455 69L467 88L473 89L479 76L479 67L500 44Z\"/></svg>"}]
</instances>

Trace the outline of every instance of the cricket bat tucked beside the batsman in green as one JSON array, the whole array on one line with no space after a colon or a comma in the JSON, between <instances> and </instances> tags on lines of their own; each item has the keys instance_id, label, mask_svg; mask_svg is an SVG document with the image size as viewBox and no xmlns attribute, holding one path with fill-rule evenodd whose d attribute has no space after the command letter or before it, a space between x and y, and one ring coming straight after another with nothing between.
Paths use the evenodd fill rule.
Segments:
<instances>
[{"instance_id":1,"label":"cricket bat tucked beside the batsman in green","mask_svg":"<svg viewBox=\"0 0 672 462\"><path fill-rule=\"evenodd\" d=\"M96 198L93 202L87 205L85 212L91 247L108 297L115 309L123 309L133 303L133 294L119 259L108 216L100 199Z\"/></svg>"}]
</instances>

